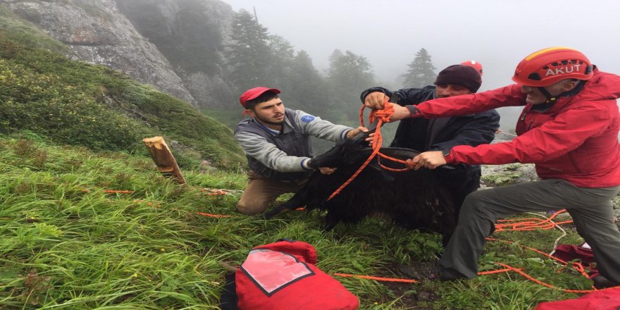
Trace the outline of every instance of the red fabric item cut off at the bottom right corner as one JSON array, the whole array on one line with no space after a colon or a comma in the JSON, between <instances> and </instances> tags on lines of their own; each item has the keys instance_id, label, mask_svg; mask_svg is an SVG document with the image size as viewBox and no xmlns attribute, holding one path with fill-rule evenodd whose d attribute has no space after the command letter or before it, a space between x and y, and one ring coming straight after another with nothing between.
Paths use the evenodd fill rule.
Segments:
<instances>
[{"instance_id":1,"label":"red fabric item cut off at the bottom right corner","mask_svg":"<svg viewBox=\"0 0 620 310\"><path fill-rule=\"evenodd\" d=\"M597 290L577 299L543 302L536 310L618 310L620 309L620 288Z\"/></svg>"}]
</instances>

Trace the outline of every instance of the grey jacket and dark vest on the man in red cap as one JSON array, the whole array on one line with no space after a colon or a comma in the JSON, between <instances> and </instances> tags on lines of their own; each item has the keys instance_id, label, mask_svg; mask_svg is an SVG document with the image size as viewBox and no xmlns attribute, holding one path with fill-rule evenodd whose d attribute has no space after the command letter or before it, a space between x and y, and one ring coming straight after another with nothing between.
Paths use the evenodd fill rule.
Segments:
<instances>
[{"instance_id":1,"label":"grey jacket and dark vest on the man in red cap","mask_svg":"<svg viewBox=\"0 0 620 310\"><path fill-rule=\"evenodd\" d=\"M274 180L299 180L311 173L305 164L314 157L311 136L338 142L352 129L304 111L285 109L282 132L250 118L237 124L235 139L254 172Z\"/></svg>"}]
</instances>

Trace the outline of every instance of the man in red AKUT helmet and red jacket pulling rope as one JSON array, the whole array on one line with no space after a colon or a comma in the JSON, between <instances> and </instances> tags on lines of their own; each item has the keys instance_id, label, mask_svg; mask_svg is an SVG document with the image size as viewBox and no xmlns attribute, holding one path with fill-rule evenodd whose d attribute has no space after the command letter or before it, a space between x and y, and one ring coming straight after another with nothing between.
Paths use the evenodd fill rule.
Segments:
<instances>
[{"instance_id":1,"label":"man in red AKUT helmet and red jacket pulling rope","mask_svg":"<svg viewBox=\"0 0 620 310\"><path fill-rule=\"evenodd\" d=\"M535 163L542 179L473 192L457 228L433 266L408 266L414 278L473 278L485 237L498 218L527 211L566 209L593 249L598 287L620 285L620 232L612 199L620 191L620 76L603 73L581 52L551 47L530 54L512 77L517 84L480 94L395 106L392 120L477 113L524 106L510 142L428 151L413 160L419 168L446 163ZM368 102L381 108L383 102Z\"/></svg>"}]
</instances>

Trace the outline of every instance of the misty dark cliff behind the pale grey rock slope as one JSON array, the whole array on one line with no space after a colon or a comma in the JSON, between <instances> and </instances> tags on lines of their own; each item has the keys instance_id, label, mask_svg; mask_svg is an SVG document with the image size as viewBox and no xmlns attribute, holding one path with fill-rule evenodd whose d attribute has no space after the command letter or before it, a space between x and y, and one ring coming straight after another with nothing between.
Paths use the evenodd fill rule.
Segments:
<instances>
[{"instance_id":1,"label":"misty dark cliff behind the pale grey rock slope","mask_svg":"<svg viewBox=\"0 0 620 310\"><path fill-rule=\"evenodd\" d=\"M223 80L225 46L235 18L219 0L117 0L141 35L168 58L200 107L224 109L235 101Z\"/></svg>"}]
</instances>

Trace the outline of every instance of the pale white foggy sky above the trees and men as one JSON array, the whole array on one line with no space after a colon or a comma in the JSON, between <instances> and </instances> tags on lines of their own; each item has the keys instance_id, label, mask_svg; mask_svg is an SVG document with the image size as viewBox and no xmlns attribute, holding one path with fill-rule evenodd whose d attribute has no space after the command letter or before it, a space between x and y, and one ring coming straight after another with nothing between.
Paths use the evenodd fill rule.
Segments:
<instances>
[{"instance_id":1,"label":"pale white foggy sky above the trees and men","mask_svg":"<svg viewBox=\"0 0 620 310\"><path fill-rule=\"evenodd\" d=\"M421 48L436 72L481 62L481 91L511 84L516 64L549 46L578 49L600 70L620 73L620 1L223 1L235 11L256 8L259 23L307 51L319 70L334 49L365 56L383 85L400 86ZM500 109L503 130L514 128L518 111Z\"/></svg>"}]
</instances>

